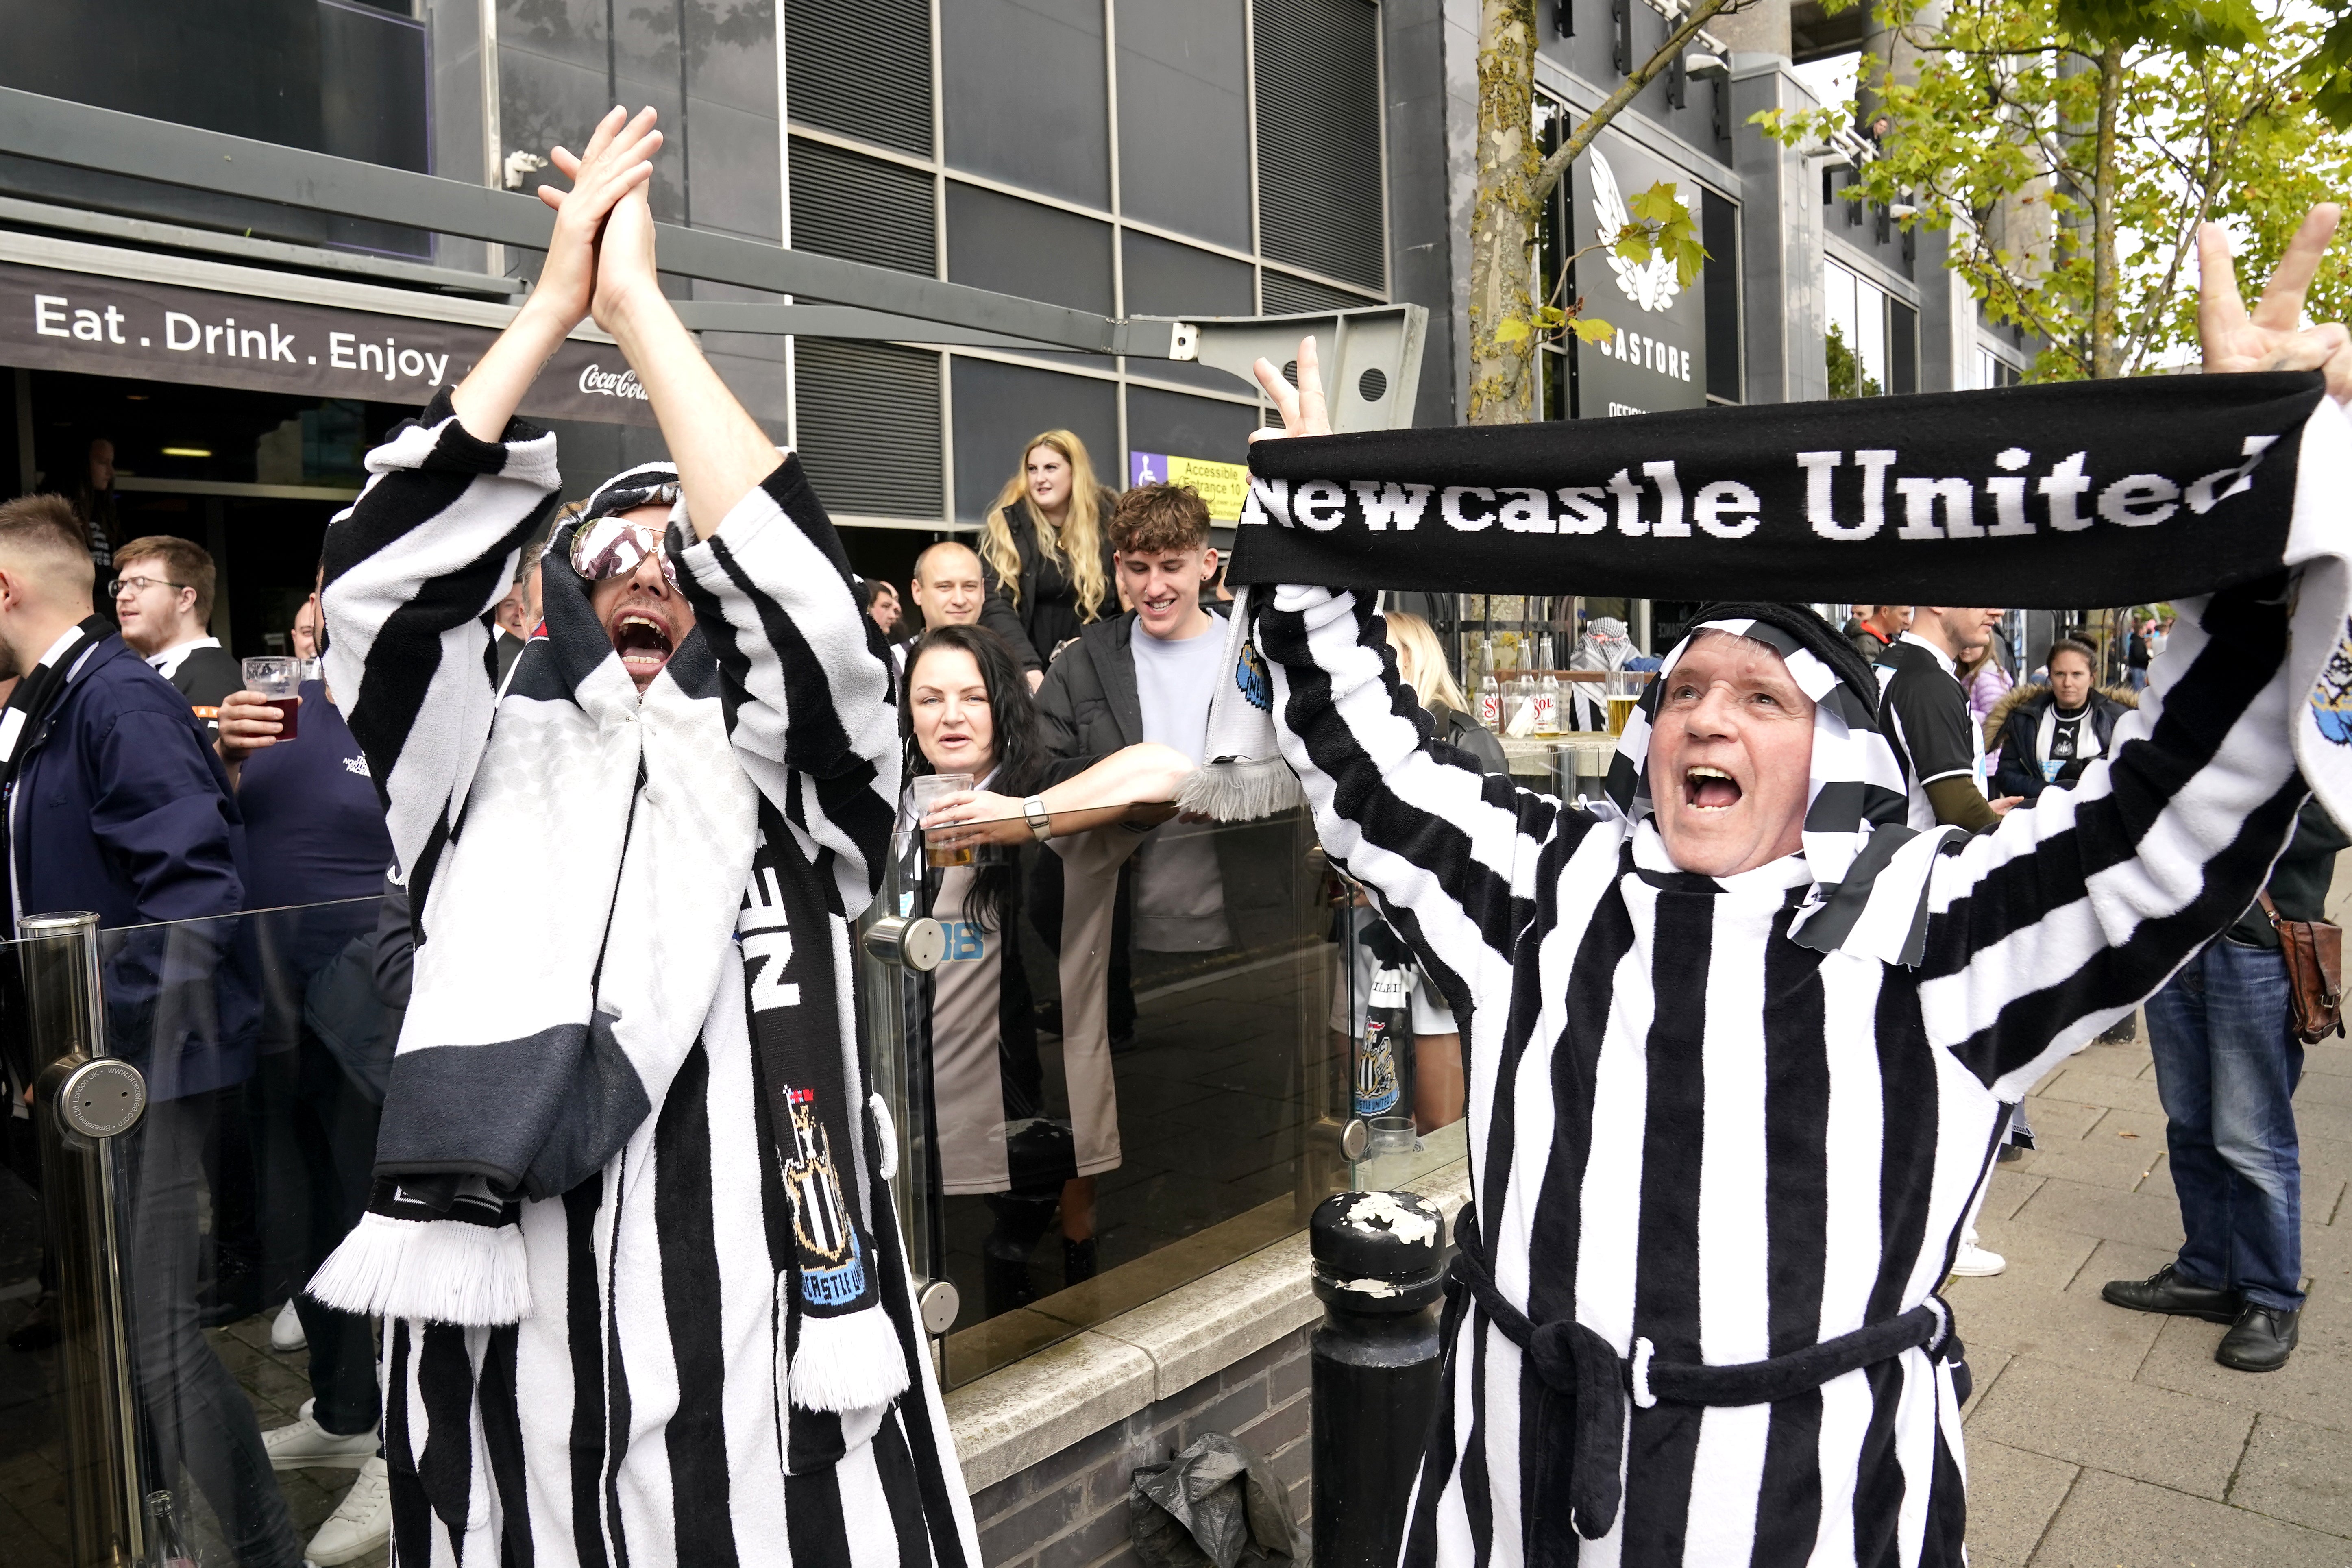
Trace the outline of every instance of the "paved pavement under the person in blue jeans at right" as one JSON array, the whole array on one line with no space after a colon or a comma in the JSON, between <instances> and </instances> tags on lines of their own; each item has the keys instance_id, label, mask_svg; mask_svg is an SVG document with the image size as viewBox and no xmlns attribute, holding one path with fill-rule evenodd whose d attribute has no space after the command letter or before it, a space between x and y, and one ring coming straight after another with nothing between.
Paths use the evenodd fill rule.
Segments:
<instances>
[{"instance_id":1,"label":"paved pavement under the person in blue jeans at right","mask_svg":"<svg viewBox=\"0 0 2352 1568\"><path fill-rule=\"evenodd\" d=\"M2338 882L2338 896L2347 893ZM2343 919L2333 907L2331 914ZM2039 1147L1978 1222L2009 1258L1957 1279L1976 1394L1976 1568L2347 1568L2352 1563L2352 1044L2310 1048L2303 1345L2277 1373L2213 1361L2223 1326L2110 1307L2180 1244L2145 1032L2098 1044L2027 1100Z\"/></svg>"}]
</instances>

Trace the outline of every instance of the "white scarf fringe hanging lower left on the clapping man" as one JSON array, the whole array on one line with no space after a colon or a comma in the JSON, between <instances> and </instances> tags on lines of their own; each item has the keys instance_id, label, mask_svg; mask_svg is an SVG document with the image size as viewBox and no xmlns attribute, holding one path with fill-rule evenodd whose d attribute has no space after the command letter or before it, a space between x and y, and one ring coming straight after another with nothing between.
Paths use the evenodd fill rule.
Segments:
<instances>
[{"instance_id":1,"label":"white scarf fringe hanging lower left on the clapping man","mask_svg":"<svg viewBox=\"0 0 2352 1568\"><path fill-rule=\"evenodd\" d=\"M336 1312L494 1328L532 1314L520 1225L360 1215L310 1279Z\"/></svg>"}]
</instances>

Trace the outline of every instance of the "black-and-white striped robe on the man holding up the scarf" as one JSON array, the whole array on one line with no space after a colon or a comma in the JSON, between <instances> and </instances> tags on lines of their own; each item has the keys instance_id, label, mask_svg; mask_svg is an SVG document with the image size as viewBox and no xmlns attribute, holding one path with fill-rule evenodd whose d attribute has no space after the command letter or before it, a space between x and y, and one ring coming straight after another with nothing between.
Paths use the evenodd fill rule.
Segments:
<instances>
[{"instance_id":1,"label":"black-and-white striped robe on the man holding up the scarf","mask_svg":"<svg viewBox=\"0 0 2352 1568\"><path fill-rule=\"evenodd\" d=\"M1324 849L1463 1025L1496 1286L1621 1356L1642 1335L1759 1361L1924 1302L2004 1103L2249 905L2307 795L2279 581L2183 599L2112 759L1938 858L1900 969L1790 940L1802 856L1677 872L1649 818L1428 745L1350 592L1272 590L1258 649ZM1409 1568L1962 1561L1959 1408L1922 1349L1771 1406L1632 1408L1623 1507L1585 1542L1536 1488L1534 1368L1468 1321L1449 1309Z\"/></svg>"}]
</instances>

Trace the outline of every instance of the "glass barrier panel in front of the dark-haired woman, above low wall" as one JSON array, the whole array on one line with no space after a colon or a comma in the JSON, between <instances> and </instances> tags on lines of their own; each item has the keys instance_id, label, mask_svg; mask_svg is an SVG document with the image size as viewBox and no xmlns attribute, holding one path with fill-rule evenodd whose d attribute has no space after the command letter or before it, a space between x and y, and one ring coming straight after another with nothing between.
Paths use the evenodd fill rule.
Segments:
<instances>
[{"instance_id":1,"label":"glass barrier panel in front of the dark-haired woman, above low wall","mask_svg":"<svg viewBox=\"0 0 2352 1568\"><path fill-rule=\"evenodd\" d=\"M943 957L906 1037L931 1150L910 1211L962 1298L950 1385L1294 1234L1345 1185L1315 830L1171 816L924 835Z\"/></svg>"}]
</instances>

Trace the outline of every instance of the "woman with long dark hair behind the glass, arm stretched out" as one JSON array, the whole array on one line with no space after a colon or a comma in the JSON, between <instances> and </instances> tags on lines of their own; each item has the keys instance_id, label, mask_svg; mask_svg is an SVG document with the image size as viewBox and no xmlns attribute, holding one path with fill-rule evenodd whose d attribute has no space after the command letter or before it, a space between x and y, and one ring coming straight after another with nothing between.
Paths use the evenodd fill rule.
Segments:
<instances>
[{"instance_id":1,"label":"woman with long dark hair behind the glass, arm stretched out","mask_svg":"<svg viewBox=\"0 0 2352 1568\"><path fill-rule=\"evenodd\" d=\"M1054 762L1014 651L978 625L936 625L915 642L901 715L910 780L969 773L978 785L927 818L946 830L929 835L934 846L1054 837L1063 851L1073 835L1127 816L1138 795L1164 797L1190 771L1171 748L1129 748L1082 773ZM1033 818L1047 823L1044 835ZM988 1312L997 1314L1035 1298L1028 1258L1056 1206L1063 1284L1094 1276L1094 1178L1120 1164L1117 1093L1108 1048L1084 1051L1065 1039L1070 1107L1061 1117L1047 1112L1014 853L934 867L929 877L931 917L948 931L948 957L931 973L938 1185L946 1197L983 1197L995 1215L983 1244L983 1286ZM1061 964L1061 973L1091 969Z\"/></svg>"}]
</instances>

